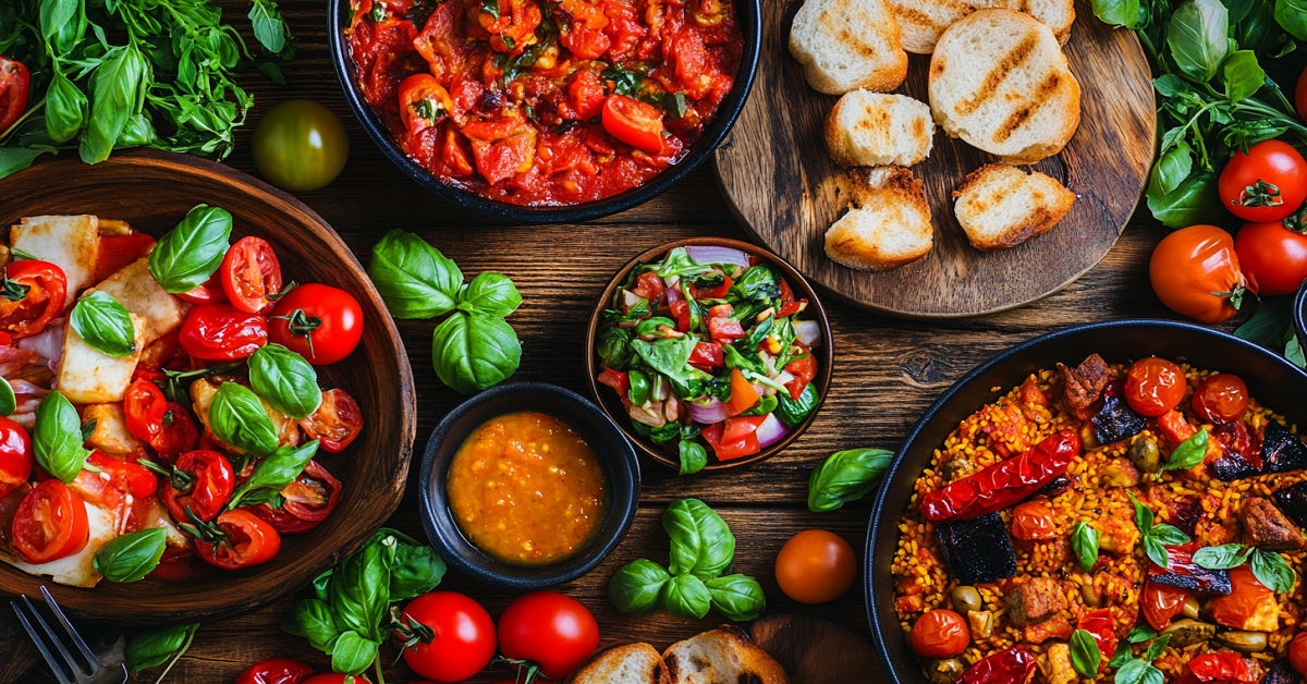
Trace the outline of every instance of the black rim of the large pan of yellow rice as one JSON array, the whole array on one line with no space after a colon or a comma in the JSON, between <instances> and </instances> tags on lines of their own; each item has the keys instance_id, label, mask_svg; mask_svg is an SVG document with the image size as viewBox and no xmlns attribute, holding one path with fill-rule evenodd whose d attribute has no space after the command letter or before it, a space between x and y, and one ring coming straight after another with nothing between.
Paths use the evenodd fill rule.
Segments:
<instances>
[{"instance_id":1,"label":"black rim of the large pan of yellow rice","mask_svg":"<svg viewBox=\"0 0 1307 684\"><path fill-rule=\"evenodd\" d=\"M944 405L955 394L961 392L965 387L967 387L968 385L971 385L972 382L975 382L976 378L979 378L980 375L983 375L985 371L988 371L993 366L997 366L997 365L1008 361L1009 358L1012 358L1014 356L1019 356L1022 353L1026 353L1026 352L1029 352L1033 348L1044 345L1044 344L1055 341L1055 340L1060 340L1063 337L1074 337L1074 336L1082 335L1085 332L1093 332L1093 331L1100 331L1100 330L1121 330L1121 328L1136 328L1136 327L1137 328L1159 328L1159 330L1165 330L1165 331L1183 332L1183 333L1189 333L1189 335L1196 335L1196 336L1205 336L1205 337L1221 339L1221 340L1227 341L1227 343L1234 343L1236 347L1240 347L1243 351L1246 351L1248 353L1252 353L1252 354L1256 354L1256 356L1259 356L1259 357L1261 357L1261 358L1264 358L1264 360L1266 360L1266 361L1269 361L1269 362L1280 366L1281 369L1290 371L1291 374L1294 374L1294 375L1298 377L1299 382L1307 383L1307 371L1304 371L1303 369L1300 369L1300 368L1295 366L1294 364L1289 362L1287 360L1285 360L1280 354L1277 354L1277 353L1274 353L1274 352L1272 352L1269 349L1265 349L1265 348L1263 348L1263 347L1260 347L1260 345L1257 345L1255 343L1251 343L1251 341L1244 340L1242 337L1236 337L1236 336L1230 335L1227 332L1222 332L1219 330L1209 328L1209 327L1205 327L1205 326L1199 326L1199 324L1195 324L1195 323L1185 323L1185 322L1180 322L1180 320L1148 319L1148 318L1127 318L1127 319L1120 319L1120 320L1106 320L1106 322L1102 322L1102 323L1087 323L1087 324L1084 324L1084 326L1072 326L1072 327L1068 327L1068 328L1057 330L1057 331L1053 331L1053 332L1039 335L1036 337L1031 337L1030 340L1026 340L1026 341L1023 341L1021 344L1017 344L1016 347L1012 347L1012 348L1008 348L1008 349L1005 349L1002 352L999 352L992 358L989 358L989 360L982 362L980 365L978 365L976 368L974 368L966 375L963 375L957 382L954 382L951 386L949 386L949 388L945 390L944 394L941 394L940 398L936 399L925 409L925 412L921 413L921 417L918 419L915 424L912 424L912 429L908 430L907 437L903 438L902 446L899 446L898 451L894 454L894 460L890 462L889 468L885 471L885 476L881 480L882 487L878 489L878 492L876 494L876 502L872 505L872 515L870 515L870 518L869 518L869 521L867 523L867 545L865 545L865 549L863 552L863 594L864 594L864 603L865 603L865 608L867 608L867 620L870 624L872 633L876 636L876 638L874 638L876 653L877 653L877 655L880 655L881 663L885 666L885 671L886 671L886 675L889 676L890 684L918 684L919 683L919 680L906 681L904 677L903 677L903 674L901 674L897 670L897 663L894 662L894 657L890 654L890 650L889 650L889 646L887 646L887 640L889 638L902 638L902 634L894 634L891 637L891 636L885 634L885 632L881 629L880 621L877 620L877 617L884 611L893 611L894 608L893 608L893 606L878 606L876 603L876 600L874 600L874 589L873 589L873 581L876 579L876 577L874 577L876 573L873 572L873 568L876 566L876 564L874 564L876 545L877 545L877 543L884 543L884 541L881 541L878 539L878 535L877 535L877 521L880 521L881 517L885 515L886 513L893 514L895 517L895 519L903 514L903 511L886 511L885 506L886 506L886 498L889 497L889 492L890 492L889 484L894 481L895 476L898 475L898 471L903 467L903 462L907 458L908 450L914 446L914 443L916 442L916 439L920 436L920 433L923 433L925 430L927 425L929 425L931 422L933 422L936 420L936 417L937 417L936 415L944 408ZM897 540L894 540L894 541L897 543ZM881 581L889 581L890 575L881 577L880 579ZM897 623L897 617L895 617L895 623Z\"/></svg>"}]
</instances>

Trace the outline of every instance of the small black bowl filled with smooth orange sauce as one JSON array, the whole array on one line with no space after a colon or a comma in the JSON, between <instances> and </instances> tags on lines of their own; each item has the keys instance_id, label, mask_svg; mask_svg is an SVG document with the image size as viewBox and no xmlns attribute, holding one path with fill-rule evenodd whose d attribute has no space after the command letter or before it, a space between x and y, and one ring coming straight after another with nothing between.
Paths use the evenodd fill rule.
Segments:
<instances>
[{"instance_id":1,"label":"small black bowl filled with smooth orange sauce","mask_svg":"<svg viewBox=\"0 0 1307 684\"><path fill-rule=\"evenodd\" d=\"M450 412L422 460L422 526L480 579L536 590L575 579L635 519L640 470L617 425L542 383L488 390Z\"/></svg>"}]
</instances>

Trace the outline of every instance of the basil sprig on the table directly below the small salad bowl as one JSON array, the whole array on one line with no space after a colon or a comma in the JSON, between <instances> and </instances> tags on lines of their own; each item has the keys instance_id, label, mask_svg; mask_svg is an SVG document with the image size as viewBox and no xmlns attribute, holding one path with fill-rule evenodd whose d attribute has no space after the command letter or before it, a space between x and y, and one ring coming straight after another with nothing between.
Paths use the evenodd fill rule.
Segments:
<instances>
[{"instance_id":1,"label":"basil sprig on the table directly below the small salad bowl","mask_svg":"<svg viewBox=\"0 0 1307 684\"><path fill-rule=\"evenodd\" d=\"M682 441L682 445L685 442ZM715 608L742 623L762 615L762 585L742 574L723 575L735 560L735 535L725 521L695 498L678 498L663 513L670 539L669 569L638 558L613 574L608 600L622 612L654 615L661 608L682 620L699 620Z\"/></svg>"}]
</instances>

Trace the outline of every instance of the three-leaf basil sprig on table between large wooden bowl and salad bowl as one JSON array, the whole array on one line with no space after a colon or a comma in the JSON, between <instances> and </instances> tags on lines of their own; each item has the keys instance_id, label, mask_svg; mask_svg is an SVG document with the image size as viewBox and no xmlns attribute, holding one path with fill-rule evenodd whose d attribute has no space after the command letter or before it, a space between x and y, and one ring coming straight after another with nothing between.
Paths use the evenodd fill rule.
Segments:
<instances>
[{"instance_id":1,"label":"three-leaf basil sprig on table between large wooden bowl and salad bowl","mask_svg":"<svg viewBox=\"0 0 1307 684\"><path fill-rule=\"evenodd\" d=\"M488 272L464 284L457 264L404 230L372 246L367 275L395 318L450 314L431 335L431 361L444 385L474 394L518 370L521 344L503 319L521 305L521 294L507 277Z\"/></svg>"}]
</instances>

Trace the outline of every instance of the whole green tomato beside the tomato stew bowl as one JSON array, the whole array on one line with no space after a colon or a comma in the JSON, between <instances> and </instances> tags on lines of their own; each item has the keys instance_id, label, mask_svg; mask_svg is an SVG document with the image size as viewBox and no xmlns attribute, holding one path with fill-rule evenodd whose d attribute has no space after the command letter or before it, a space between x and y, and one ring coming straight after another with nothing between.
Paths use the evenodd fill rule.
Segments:
<instances>
[{"instance_id":1,"label":"whole green tomato beside the tomato stew bowl","mask_svg":"<svg viewBox=\"0 0 1307 684\"><path fill-rule=\"evenodd\" d=\"M318 190L340 175L348 158L345 126L311 99L272 107L254 129L254 163L281 190Z\"/></svg>"}]
</instances>

